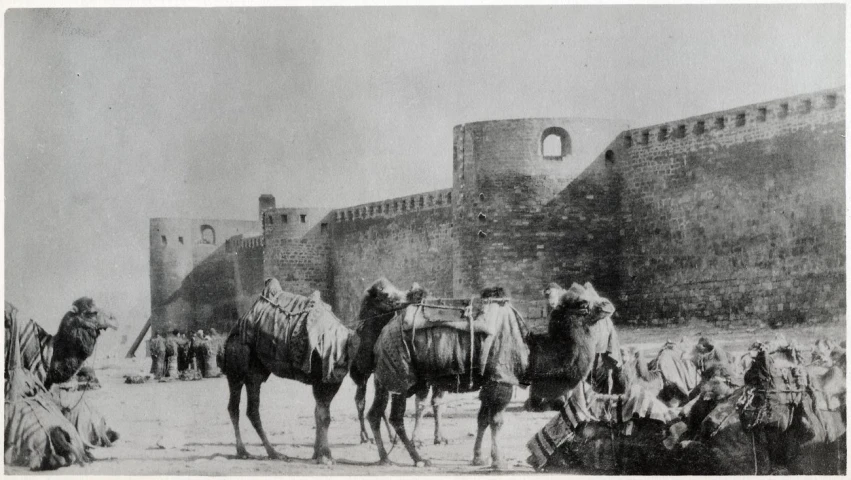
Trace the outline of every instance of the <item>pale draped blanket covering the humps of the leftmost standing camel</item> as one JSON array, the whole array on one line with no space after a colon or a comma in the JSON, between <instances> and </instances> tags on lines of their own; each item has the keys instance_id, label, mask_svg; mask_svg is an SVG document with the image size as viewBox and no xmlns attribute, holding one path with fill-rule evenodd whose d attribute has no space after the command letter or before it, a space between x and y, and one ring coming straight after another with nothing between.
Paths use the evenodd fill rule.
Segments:
<instances>
[{"instance_id":1,"label":"pale draped blanket covering the humps of the leftmost standing camel","mask_svg":"<svg viewBox=\"0 0 851 480\"><path fill-rule=\"evenodd\" d=\"M302 379L311 373L311 356L322 359L322 380L341 382L354 358L352 331L322 302L319 292L304 297L281 289L275 279L240 318L234 329L275 375Z\"/></svg>"}]
</instances>

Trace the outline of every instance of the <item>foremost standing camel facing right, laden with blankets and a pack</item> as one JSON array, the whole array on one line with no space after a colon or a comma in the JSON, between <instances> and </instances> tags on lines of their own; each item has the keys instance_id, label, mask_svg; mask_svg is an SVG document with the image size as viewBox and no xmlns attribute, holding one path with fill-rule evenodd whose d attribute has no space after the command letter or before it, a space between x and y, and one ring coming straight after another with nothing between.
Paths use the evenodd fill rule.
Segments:
<instances>
[{"instance_id":1,"label":"foremost standing camel facing right, laden with blankets and a pack","mask_svg":"<svg viewBox=\"0 0 851 480\"><path fill-rule=\"evenodd\" d=\"M482 440L491 429L491 458L493 466L503 468L499 453L499 431L502 412L511 400L513 386L523 380L534 380L539 372L530 365L526 345L528 329L511 306L502 288L482 292L482 311L476 316L475 336L447 327L404 332L395 322L388 324L376 343L376 394L369 411L369 422L375 435L381 463L389 463L379 431L379 421L386 409L390 392L393 396L390 423L402 439L415 465L428 465L405 433L405 400L411 393L430 383L445 389L459 385L457 367L465 365L472 349L472 369L469 391L480 389L481 408L477 418L478 431L473 449L473 464L485 465ZM579 285L565 291L553 311L559 337L548 348L561 353L559 372L548 380L562 382L565 388L575 387L588 376L593 366L594 336L590 326L613 310L611 302L599 297L592 288ZM472 341L471 341L472 340ZM456 352L455 355L447 352ZM413 365L416 364L416 368ZM532 367L532 368L530 368ZM470 372L462 372L466 376Z\"/></svg>"}]
</instances>

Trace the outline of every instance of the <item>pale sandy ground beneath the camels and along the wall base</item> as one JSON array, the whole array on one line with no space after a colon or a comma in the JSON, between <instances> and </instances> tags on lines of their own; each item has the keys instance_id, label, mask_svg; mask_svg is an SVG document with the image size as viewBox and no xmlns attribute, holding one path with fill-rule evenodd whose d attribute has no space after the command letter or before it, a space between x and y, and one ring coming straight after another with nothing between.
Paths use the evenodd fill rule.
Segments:
<instances>
[{"instance_id":1,"label":"pale sandy ground beneath the camels and along the wall base","mask_svg":"<svg viewBox=\"0 0 851 480\"><path fill-rule=\"evenodd\" d=\"M769 340L778 333L801 344L811 345L816 338L844 339L844 325L800 327L785 330L722 330L711 326L620 329L622 343L638 347L646 357L658 350L666 338L706 335L731 352L743 352L752 341ZM477 394L447 397L444 435L448 445L433 445L434 422L429 414L419 431L424 441L420 453L433 462L431 467L414 468L400 444L390 458L394 465L378 466L378 453L372 444L361 444L354 406L355 387L346 379L331 405L332 423L329 440L336 465L316 465L310 461L315 435L313 397L309 386L272 377L263 386L261 417L270 441L292 461L273 461L265 452L250 422L243 415L241 429L250 453L258 458L234 457L234 437L226 406L225 378L194 382L151 382L124 384L125 374L142 373L150 360L103 359L94 365L103 384L100 390L86 392L87 398L106 416L121 439L111 448L94 451L97 461L85 466L62 468L51 474L64 475L459 475L487 474L487 467L473 467L473 441L478 411ZM522 409L527 390L515 389L514 399L505 413L502 452L509 469L505 474L529 474L526 442L553 415L530 413ZM371 402L370 385L367 400ZM369 403L367 404L369 405ZM243 393L241 411L245 410ZM413 399L408 403L406 425L413 426ZM386 438L386 432L383 431ZM485 454L490 435L486 435ZM29 474L23 468L6 467L6 474Z\"/></svg>"}]
</instances>

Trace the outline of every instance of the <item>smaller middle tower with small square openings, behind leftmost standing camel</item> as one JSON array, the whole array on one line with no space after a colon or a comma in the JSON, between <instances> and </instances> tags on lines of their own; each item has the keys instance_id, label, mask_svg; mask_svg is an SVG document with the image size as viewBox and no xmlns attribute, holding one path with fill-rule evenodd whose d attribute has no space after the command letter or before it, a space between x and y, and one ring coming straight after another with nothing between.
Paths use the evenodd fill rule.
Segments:
<instances>
[{"instance_id":1,"label":"smaller middle tower with small square openings, behind leftmost standing camel","mask_svg":"<svg viewBox=\"0 0 851 480\"><path fill-rule=\"evenodd\" d=\"M263 212L263 279L308 296L319 290L332 303L331 212L324 208L274 208ZM262 290L262 287L261 287Z\"/></svg>"}]
</instances>

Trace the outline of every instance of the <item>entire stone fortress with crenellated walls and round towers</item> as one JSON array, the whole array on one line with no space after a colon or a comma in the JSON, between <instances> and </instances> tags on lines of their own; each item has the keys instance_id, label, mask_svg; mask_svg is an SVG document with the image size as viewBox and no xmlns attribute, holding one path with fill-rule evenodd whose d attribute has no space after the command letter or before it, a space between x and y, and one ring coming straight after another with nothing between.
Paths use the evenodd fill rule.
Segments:
<instances>
[{"instance_id":1,"label":"entire stone fortress with crenellated walls and round towers","mask_svg":"<svg viewBox=\"0 0 851 480\"><path fill-rule=\"evenodd\" d=\"M453 131L451 188L258 220L151 220L155 332L227 330L269 276L352 324L379 277L529 320L592 282L616 322L845 321L844 88L643 128L538 118Z\"/></svg>"}]
</instances>

